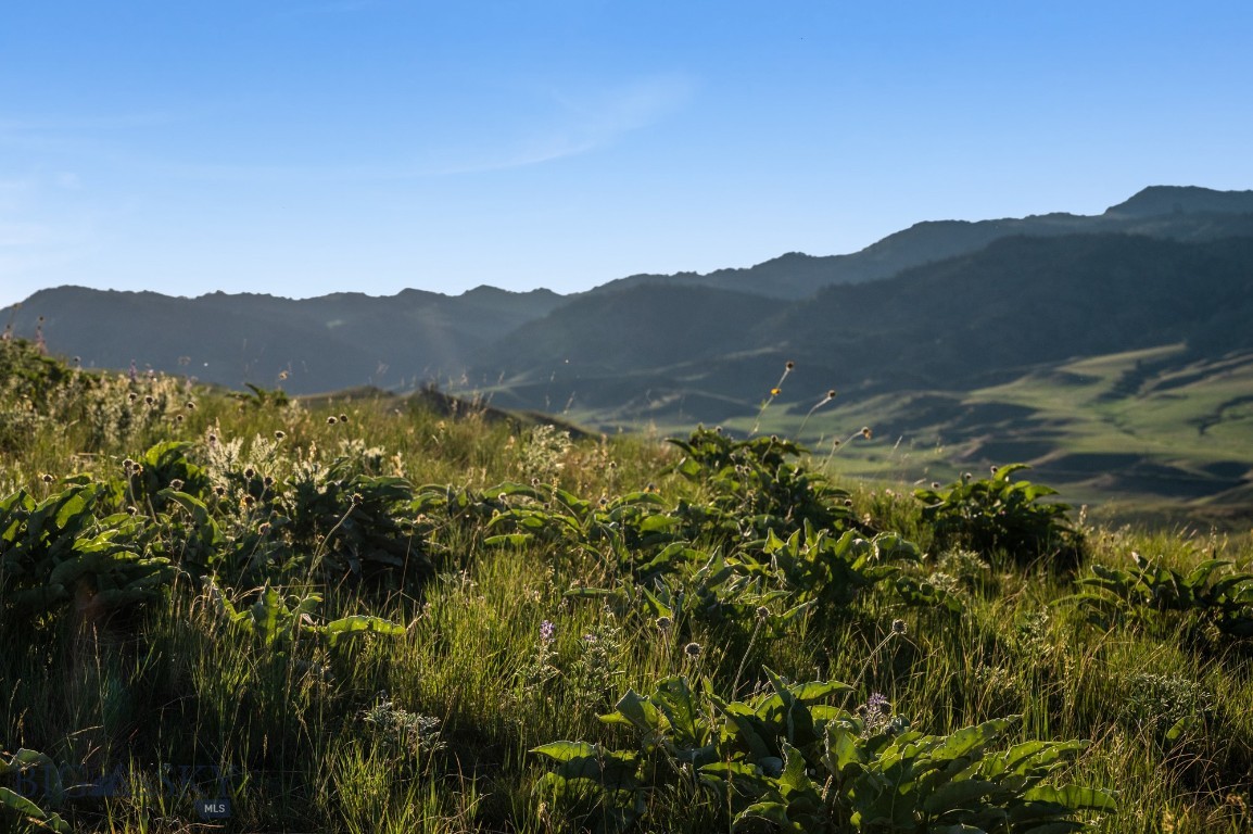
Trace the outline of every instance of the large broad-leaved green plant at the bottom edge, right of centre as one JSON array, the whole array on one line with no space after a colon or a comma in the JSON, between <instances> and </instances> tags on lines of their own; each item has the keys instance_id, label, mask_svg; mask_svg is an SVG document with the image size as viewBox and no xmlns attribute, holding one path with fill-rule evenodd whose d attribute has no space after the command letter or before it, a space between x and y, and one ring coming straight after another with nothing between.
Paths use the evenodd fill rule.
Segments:
<instances>
[{"instance_id":1,"label":"large broad-leaved green plant at the bottom edge, right of centre","mask_svg":"<svg viewBox=\"0 0 1253 834\"><path fill-rule=\"evenodd\" d=\"M645 698L629 690L608 724L634 730L638 746L613 750L556 741L531 753L556 763L539 789L578 808L603 830L623 830L664 788L729 808L733 829L1045 834L1078 831L1080 813L1113 813L1109 791L1044 784L1083 741L1004 746L1017 718L950 735L858 716L828 701L836 681L769 686L724 701L708 682L668 677Z\"/></svg>"}]
</instances>

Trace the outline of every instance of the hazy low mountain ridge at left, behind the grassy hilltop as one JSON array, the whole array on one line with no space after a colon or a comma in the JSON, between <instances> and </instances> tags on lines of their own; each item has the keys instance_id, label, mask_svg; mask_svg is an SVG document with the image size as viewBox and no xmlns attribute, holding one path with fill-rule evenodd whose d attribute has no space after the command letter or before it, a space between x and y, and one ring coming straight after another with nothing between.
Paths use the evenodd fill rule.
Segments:
<instances>
[{"instance_id":1,"label":"hazy low mountain ridge at left, behind the grassy hilltop","mask_svg":"<svg viewBox=\"0 0 1253 834\"><path fill-rule=\"evenodd\" d=\"M15 316L38 316L50 349L84 367L154 368L204 382L246 382L292 393L358 384L417 387L564 299L546 289L479 287L461 296L406 289L390 298L337 293L309 299L61 287L35 293Z\"/></svg>"}]
</instances>

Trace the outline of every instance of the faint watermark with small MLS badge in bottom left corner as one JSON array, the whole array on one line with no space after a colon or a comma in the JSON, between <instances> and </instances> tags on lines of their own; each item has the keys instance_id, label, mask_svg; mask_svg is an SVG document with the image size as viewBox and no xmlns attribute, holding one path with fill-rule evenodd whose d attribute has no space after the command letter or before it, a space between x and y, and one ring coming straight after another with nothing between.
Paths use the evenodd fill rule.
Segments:
<instances>
[{"instance_id":1,"label":"faint watermark with small MLS badge in bottom left corner","mask_svg":"<svg viewBox=\"0 0 1253 834\"><path fill-rule=\"evenodd\" d=\"M190 799L200 819L229 819L232 785L242 773L234 766L175 765L163 763L154 773L135 774L122 765L98 771L73 765L33 764L10 771L0 785L21 796L113 799L159 794Z\"/></svg>"}]
</instances>

